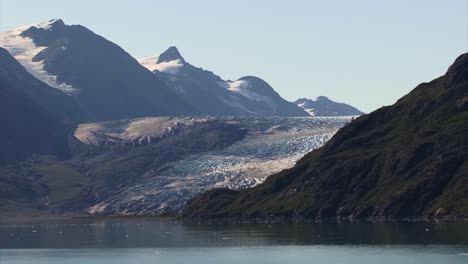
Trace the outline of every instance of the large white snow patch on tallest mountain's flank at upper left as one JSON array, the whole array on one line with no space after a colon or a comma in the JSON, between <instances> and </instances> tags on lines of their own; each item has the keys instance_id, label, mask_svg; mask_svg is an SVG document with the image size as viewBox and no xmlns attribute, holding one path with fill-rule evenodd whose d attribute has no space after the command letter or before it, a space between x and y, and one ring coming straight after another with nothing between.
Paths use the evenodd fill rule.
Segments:
<instances>
[{"instance_id":1,"label":"large white snow patch on tallest mountain's flank at upper left","mask_svg":"<svg viewBox=\"0 0 468 264\"><path fill-rule=\"evenodd\" d=\"M55 19L48 22L31 24L10 31L1 32L0 47L5 48L31 75L51 87L70 94L75 92L77 89L66 83L59 83L57 81L57 76L44 70L43 61L33 61L34 56L47 47L38 47L34 44L34 41L31 38L21 36L21 33L30 27L50 30L51 25L55 21L57 20ZM62 50L66 50L66 48L64 47Z\"/></svg>"}]
</instances>

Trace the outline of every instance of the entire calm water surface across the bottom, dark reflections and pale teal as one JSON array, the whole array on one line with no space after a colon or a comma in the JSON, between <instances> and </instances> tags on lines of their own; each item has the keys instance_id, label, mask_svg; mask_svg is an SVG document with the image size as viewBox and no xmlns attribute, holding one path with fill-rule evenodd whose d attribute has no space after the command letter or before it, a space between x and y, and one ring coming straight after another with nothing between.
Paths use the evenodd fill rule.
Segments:
<instances>
[{"instance_id":1,"label":"entire calm water surface across the bottom, dark reflections and pale teal","mask_svg":"<svg viewBox=\"0 0 468 264\"><path fill-rule=\"evenodd\" d=\"M1 224L0 263L468 263L468 223Z\"/></svg>"}]
</instances>

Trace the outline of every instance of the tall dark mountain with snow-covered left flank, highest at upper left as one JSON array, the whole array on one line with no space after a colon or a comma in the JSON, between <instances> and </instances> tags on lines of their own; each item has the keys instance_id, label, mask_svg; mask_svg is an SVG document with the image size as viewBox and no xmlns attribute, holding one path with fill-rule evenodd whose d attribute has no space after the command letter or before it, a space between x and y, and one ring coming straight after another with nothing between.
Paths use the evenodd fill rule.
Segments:
<instances>
[{"instance_id":1,"label":"tall dark mountain with snow-covered left flank, highest at upper left","mask_svg":"<svg viewBox=\"0 0 468 264\"><path fill-rule=\"evenodd\" d=\"M60 19L28 25L0 33L0 46L73 97L84 120L200 114L122 48L83 26Z\"/></svg>"}]
</instances>

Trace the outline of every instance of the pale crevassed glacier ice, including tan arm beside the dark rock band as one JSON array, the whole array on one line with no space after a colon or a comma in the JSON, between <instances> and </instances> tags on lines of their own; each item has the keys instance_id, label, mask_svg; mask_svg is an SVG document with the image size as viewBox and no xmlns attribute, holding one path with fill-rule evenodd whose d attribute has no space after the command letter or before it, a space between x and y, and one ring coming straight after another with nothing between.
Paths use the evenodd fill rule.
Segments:
<instances>
[{"instance_id":1,"label":"pale crevassed glacier ice, including tan arm beside the dark rock band","mask_svg":"<svg viewBox=\"0 0 468 264\"><path fill-rule=\"evenodd\" d=\"M302 156L321 147L351 117L224 118L245 128L247 136L216 151L190 155L149 169L122 192L87 208L93 215L165 215L180 212L195 195L218 187L241 189L292 167ZM139 140L167 136L168 128L188 129L212 118L145 118L120 124L85 124L77 138L95 144L107 136ZM86 132L89 130L88 132ZM131 131L131 132L129 132ZM108 133L106 135L106 133ZM96 135L105 135L95 137ZM90 138L83 135L94 135Z\"/></svg>"}]
</instances>

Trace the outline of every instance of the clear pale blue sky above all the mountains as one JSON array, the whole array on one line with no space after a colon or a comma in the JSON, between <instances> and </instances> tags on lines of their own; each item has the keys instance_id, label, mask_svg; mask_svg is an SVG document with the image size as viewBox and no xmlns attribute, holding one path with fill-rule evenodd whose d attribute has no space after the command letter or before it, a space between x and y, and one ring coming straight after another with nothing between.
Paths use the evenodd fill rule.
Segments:
<instances>
[{"instance_id":1,"label":"clear pale blue sky above all the mountains","mask_svg":"<svg viewBox=\"0 0 468 264\"><path fill-rule=\"evenodd\" d=\"M226 79L364 111L394 103L468 51L467 0L0 0L0 30L62 18L135 57L175 45Z\"/></svg>"}]
</instances>

